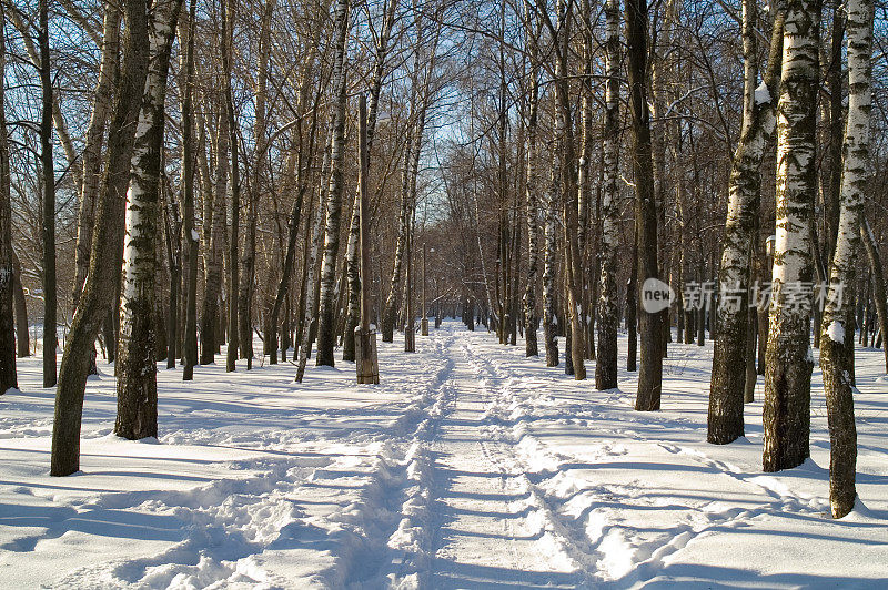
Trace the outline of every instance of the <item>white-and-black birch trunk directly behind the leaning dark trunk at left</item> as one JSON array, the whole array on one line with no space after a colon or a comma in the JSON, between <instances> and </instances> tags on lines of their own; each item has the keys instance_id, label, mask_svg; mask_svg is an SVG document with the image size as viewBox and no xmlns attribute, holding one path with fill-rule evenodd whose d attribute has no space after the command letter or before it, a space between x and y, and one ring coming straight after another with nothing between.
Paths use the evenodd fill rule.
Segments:
<instances>
[{"instance_id":1,"label":"white-and-black birch trunk directly behind the leaning dark trunk at left","mask_svg":"<svg viewBox=\"0 0 888 590\"><path fill-rule=\"evenodd\" d=\"M160 235L159 185L167 73L181 7L182 0L162 0L154 9L150 65L135 131L130 189L127 192L114 434L130 440L158 436L153 309Z\"/></svg>"}]
</instances>

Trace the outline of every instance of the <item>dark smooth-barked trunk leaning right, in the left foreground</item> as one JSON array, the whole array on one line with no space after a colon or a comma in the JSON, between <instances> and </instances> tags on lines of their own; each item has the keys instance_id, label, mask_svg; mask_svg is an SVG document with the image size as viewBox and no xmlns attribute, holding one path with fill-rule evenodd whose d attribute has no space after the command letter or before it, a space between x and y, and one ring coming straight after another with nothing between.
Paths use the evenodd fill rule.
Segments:
<instances>
[{"instance_id":1,"label":"dark smooth-barked trunk leaning right, in the left foreground","mask_svg":"<svg viewBox=\"0 0 888 590\"><path fill-rule=\"evenodd\" d=\"M80 424L90 352L114 295L121 261L123 204L129 184L135 124L149 61L148 9L144 0L125 0L127 37L123 68L109 126L108 164L99 193L90 269L80 305L71 322L59 368L52 429L50 475L67 476L80 469Z\"/></svg>"}]
</instances>

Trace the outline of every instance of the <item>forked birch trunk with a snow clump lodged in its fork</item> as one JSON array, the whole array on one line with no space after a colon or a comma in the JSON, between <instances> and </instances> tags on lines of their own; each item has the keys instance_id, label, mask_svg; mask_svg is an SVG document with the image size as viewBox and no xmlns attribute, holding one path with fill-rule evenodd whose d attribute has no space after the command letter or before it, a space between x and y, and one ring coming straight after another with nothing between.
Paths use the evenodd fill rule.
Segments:
<instances>
[{"instance_id":1,"label":"forked birch trunk with a snow clump lodged in its fork","mask_svg":"<svg viewBox=\"0 0 888 590\"><path fill-rule=\"evenodd\" d=\"M746 355L749 335L746 308L750 287L749 252L754 240L761 192L761 161L770 144L776 124L774 101L779 83L783 48L783 14L778 14L771 35L770 61L760 87L756 84L758 55L755 42L756 4L745 0L744 10L744 121L740 141L734 153L728 185L728 213L719 284L726 305L718 307L717 335L709 385L707 440L725 445L744 435L743 408L746 384L745 366L737 363ZM736 298L736 297L739 297Z\"/></svg>"}]
</instances>

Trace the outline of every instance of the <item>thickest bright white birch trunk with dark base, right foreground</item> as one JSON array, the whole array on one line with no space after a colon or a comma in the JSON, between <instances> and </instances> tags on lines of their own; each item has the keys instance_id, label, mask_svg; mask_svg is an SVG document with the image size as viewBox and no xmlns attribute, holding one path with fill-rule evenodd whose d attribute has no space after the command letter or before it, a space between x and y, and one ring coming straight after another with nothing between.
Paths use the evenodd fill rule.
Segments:
<instances>
[{"instance_id":1,"label":"thickest bright white birch trunk with dark base, right foreground","mask_svg":"<svg viewBox=\"0 0 888 590\"><path fill-rule=\"evenodd\" d=\"M810 216L817 195L816 102L820 4L785 4L783 71L777 104L777 206L767 369L765 471L800 465L810 455Z\"/></svg>"}]
</instances>

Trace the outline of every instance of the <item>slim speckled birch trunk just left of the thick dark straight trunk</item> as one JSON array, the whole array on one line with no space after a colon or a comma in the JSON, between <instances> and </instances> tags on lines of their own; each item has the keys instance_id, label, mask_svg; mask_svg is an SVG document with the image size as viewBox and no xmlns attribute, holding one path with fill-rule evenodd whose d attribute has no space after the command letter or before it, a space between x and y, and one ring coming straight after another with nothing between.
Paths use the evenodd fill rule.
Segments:
<instances>
[{"instance_id":1,"label":"slim speckled birch trunk just left of the thick dark straight trunk","mask_svg":"<svg viewBox=\"0 0 888 590\"><path fill-rule=\"evenodd\" d=\"M602 187L602 268L598 291L598 354L595 387L617 386L617 257L619 256L619 0L607 0L604 120L604 186Z\"/></svg>"}]
</instances>

